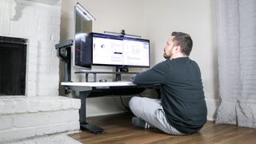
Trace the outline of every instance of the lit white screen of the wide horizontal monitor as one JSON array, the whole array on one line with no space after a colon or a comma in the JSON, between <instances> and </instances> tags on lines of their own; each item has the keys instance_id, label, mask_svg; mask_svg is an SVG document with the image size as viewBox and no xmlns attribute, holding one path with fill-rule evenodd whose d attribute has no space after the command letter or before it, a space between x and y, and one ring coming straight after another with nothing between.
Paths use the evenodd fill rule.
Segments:
<instances>
[{"instance_id":1,"label":"lit white screen of the wide horizontal monitor","mask_svg":"<svg viewBox=\"0 0 256 144\"><path fill-rule=\"evenodd\" d=\"M107 34L93 34L93 65L150 66L150 41Z\"/></svg>"}]
</instances>

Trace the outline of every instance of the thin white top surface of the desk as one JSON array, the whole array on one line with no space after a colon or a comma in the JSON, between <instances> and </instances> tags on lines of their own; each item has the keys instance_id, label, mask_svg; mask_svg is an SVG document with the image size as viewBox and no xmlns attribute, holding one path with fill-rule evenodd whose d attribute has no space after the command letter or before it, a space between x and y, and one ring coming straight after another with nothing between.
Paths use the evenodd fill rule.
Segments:
<instances>
[{"instance_id":1,"label":"thin white top surface of the desk","mask_svg":"<svg viewBox=\"0 0 256 144\"><path fill-rule=\"evenodd\" d=\"M62 82L62 86L136 86L132 82Z\"/></svg>"}]
</instances>

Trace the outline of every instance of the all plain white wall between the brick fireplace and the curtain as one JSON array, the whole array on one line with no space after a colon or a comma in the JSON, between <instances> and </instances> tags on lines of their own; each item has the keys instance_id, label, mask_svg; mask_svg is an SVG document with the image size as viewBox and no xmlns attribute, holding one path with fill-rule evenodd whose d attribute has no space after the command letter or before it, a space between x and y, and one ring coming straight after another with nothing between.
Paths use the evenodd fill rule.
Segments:
<instances>
[{"instance_id":1,"label":"all plain white wall between the brick fireplace and the curtain","mask_svg":"<svg viewBox=\"0 0 256 144\"><path fill-rule=\"evenodd\" d=\"M124 29L127 34L138 34L143 38L149 38L151 66L164 60L163 46L172 31L190 34L194 40L194 49L190 58L198 62L201 67L209 109L208 119L213 119L218 99L218 67L212 0L81 0L78 2L96 18L93 22L94 32L102 33L105 30L119 32ZM75 2L62 2L62 40L73 38L74 5ZM112 69L94 66L93 70ZM72 80L82 80L81 78L84 76L73 75ZM119 100L111 97L89 98L87 104L88 116L111 114L122 110Z\"/></svg>"}]
</instances>

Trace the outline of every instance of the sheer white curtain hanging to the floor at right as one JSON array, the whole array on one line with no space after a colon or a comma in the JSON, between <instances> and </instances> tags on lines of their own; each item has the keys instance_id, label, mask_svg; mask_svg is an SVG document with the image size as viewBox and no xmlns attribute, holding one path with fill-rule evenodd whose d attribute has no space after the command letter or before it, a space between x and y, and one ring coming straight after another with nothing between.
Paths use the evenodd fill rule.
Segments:
<instances>
[{"instance_id":1,"label":"sheer white curtain hanging to the floor at right","mask_svg":"<svg viewBox=\"0 0 256 144\"><path fill-rule=\"evenodd\" d=\"M217 123L256 127L256 0L216 0Z\"/></svg>"}]
</instances>

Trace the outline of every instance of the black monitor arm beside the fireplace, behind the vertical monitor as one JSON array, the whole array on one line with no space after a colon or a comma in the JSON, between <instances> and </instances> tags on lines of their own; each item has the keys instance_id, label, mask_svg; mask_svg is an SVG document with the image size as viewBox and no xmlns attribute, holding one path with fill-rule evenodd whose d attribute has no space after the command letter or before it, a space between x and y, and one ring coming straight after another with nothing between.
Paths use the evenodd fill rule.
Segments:
<instances>
[{"instance_id":1,"label":"black monitor arm beside the fireplace, behind the vertical monitor","mask_svg":"<svg viewBox=\"0 0 256 144\"><path fill-rule=\"evenodd\" d=\"M60 42L55 45L57 50L57 57L64 62L64 82L71 82L71 46L73 40L67 40L66 42ZM70 90L65 86L65 94L69 94Z\"/></svg>"}]
</instances>

